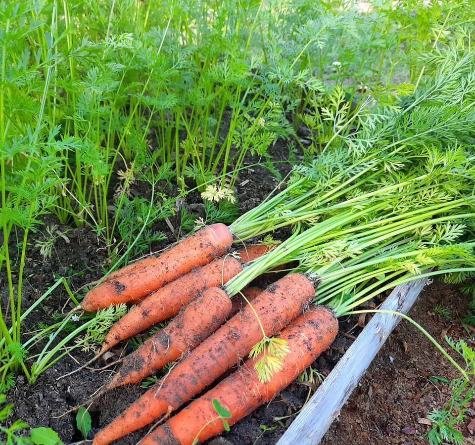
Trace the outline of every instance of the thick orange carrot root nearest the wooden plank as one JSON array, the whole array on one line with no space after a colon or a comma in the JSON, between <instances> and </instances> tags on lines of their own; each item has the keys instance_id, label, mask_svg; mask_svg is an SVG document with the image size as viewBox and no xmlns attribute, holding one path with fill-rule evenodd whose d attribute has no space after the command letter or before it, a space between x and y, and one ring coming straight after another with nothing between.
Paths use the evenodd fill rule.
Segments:
<instances>
[{"instance_id":1,"label":"thick orange carrot root nearest the wooden plank","mask_svg":"<svg viewBox=\"0 0 475 445\"><path fill-rule=\"evenodd\" d=\"M224 424L213 400L231 413L226 420L234 425L295 380L332 344L337 332L338 321L330 309L319 306L300 315L282 331L280 337L287 341L290 352L281 359L282 369L266 383L259 381L254 369L262 356L249 359L230 377L147 435L141 445L191 445L195 438L203 442L222 433Z\"/></svg>"}]
</instances>

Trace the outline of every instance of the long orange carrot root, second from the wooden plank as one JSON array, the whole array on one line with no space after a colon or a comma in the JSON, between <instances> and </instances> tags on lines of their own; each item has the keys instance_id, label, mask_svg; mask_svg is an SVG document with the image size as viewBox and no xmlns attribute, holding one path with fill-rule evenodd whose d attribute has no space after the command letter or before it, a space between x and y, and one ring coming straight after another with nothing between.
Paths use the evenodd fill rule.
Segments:
<instances>
[{"instance_id":1,"label":"long orange carrot root, second from the wooden plank","mask_svg":"<svg viewBox=\"0 0 475 445\"><path fill-rule=\"evenodd\" d=\"M214 291L208 289L204 293ZM269 286L254 299L252 307L244 307L99 431L93 444L109 444L179 408L236 364L240 357L249 354L262 340L263 331L266 336L274 335L314 296L313 284L300 273L287 275Z\"/></svg>"}]
</instances>

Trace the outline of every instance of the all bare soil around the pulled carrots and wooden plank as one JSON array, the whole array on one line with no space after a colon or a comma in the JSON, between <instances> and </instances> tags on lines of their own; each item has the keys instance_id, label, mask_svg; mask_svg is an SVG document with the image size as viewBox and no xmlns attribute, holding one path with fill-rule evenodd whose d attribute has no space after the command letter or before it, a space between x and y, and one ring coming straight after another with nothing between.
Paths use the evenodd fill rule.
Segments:
<instances>
[{"instance_id":1,"label":"all bare soil around the pulled carrots and wooden plank","mask_svg":"<svg viewBox=\"0 0 475 445\"><path fill-rule=\"evenodd\" d=\"M278 150L279 153L279 150ZM279 155L278 155L279 156ZM285 161L285 151L281 150L281 160ZM250 160L249 163L252 163ZM285 175L288 164L278 164ZM263 167L244 170L238 181L238 198L241 211L255 207L278 184L278 181ZM143 196L149 190L132 185L132 196ZM193 196L187 197L193 203ZM199 196L195 196L199 202ZM52 222L53 220L51 220ZM177 226L178 220L171 219ZM176 241L168 225L161 221L153 227L163 231L168 239L151 246L158 251L167 244ZM281 234L285 236L284 234ZM32 239L40 237L33 235ZM86 228L75 228L67 232L67 239L59 238L54 246L51 260L44 260L33 243L28 252L25 269L25 296L23 307L30 306L58 276L69 276L73 289L99 278L107 267L106 249L95 234ZM5 278L0 282L1 297L6 300ZM31 314L23 326L23 332L37 328L38 322L50 323L58 308L66 302L64 290L54 292L41 307ZM431 312L441 304L452 310L452 320L443 319ZM3 306L5 307L5 306ZM456 319L456 309L465 310L467 298L454 286L433 284L419 298L411 311L413 316L436 338L445 333L454 338L472 340ZM324 376L328 375L338 359L352 343L352 336L361 328L356 327L358 320L341 320L340 334L331 348L316 361L314 366ZM469 330L472 334L472 331ZM470 337L470 338L469 338ZM59 376L78 368L88 361L92 351L74 351L65 356L42 374L37 383L29 386L23 377L17 379L15 387L8 394L8 401L14 403L14 415L10 420L23 419L33 427L53 428L65 444L80 441L80 432L76 427L75 416L65 415L70 407L83 403L104 384L114 369L82 369L69 377L56 380ZM74 358L73 358L74 357ZM78 364L79 363L79 364ZM97 363L94 366L100 367ZM456 373L451 366L436 353L427 339L412 325L402 322L381 349L359 387L343 408L338 420L333 423L325 437L325 444L424 444L422 438L428 430L425 423L418 419L427 418L433 408L440 408L447 399L447 388L443 384L434 385L430 376L443 376L451 379ZM93 431L92 438L99 427L104 426L137 399L145 389L140 387L120 388L109 392L90 409ZM295 413L307 398L308 384L292 384L271 403L259 408L253 414L241 420L231 432L209 441L209 444L275 444L285 428L294 419ZM474 409L475 411L475 409ZM474 411L470 411L475 416ZM318 415L316 413L316 415ZM276 417L285 417L276 422ZM265 427L268 428L264 431ZM136 444L147 430L144 429L118 441L119 444ZM462 426L466 436L470 436L466 425ZM469 439L468 439L469 440Z\"/></svg>"}]
</instances>

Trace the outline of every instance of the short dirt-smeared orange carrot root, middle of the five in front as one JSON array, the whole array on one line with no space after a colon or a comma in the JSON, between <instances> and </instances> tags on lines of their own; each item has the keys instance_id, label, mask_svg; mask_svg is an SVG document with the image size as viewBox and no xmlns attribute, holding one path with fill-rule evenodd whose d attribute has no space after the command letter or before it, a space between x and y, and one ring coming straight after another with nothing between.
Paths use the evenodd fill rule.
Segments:
<instances>
[{"instance_id":1,"label":"short dirt-smeared orange carrot root, middle of the five in front","mask_svg":"<svg viewBox=\"0 0 475 445\"><path fill-rule=\"evenodd\" d=\"M226 292L217 287L198 295L167 327L152 335L137 351L125 357L108 389L141 382L168 362L193 350L226 321L232 307Z\"/></svg>"}]
</instances>

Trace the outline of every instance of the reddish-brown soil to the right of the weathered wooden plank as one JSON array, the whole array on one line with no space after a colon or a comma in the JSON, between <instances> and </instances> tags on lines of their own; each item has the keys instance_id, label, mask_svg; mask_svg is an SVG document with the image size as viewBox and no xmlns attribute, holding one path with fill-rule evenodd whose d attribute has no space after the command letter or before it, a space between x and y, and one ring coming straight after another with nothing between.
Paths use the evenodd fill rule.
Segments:
<instances>
[{"instance_id":1,"label":"reddish-brown soil to the right of the weathered wooden plank","mask_svg":"<svg viewBox=\"0 0 475 445\"><path fill-rule=\"evenodd\" d=\"M451 320L435 314L441 305L450 309ZM463 317L468 298L457 286L434 283L421 293L409 315L442 345L444 337L465 339L474 346L474 329L457 319ZM448 349L448 345L446 345ZM427 338L407 321L401 322L381 348L337 421L328 431L325 445L427 444L427 415L449 400L446 384L429 377L458 378L456 369L435 350ZM475 418L475 401L469 419L460 426L466 444L475 444L467 426Z\"/></svg>"}]
</instances>

